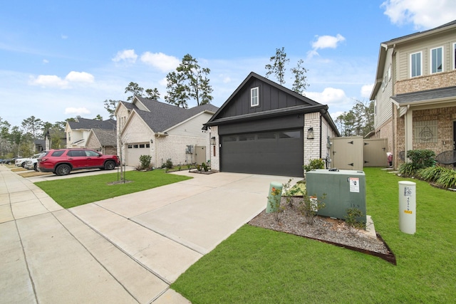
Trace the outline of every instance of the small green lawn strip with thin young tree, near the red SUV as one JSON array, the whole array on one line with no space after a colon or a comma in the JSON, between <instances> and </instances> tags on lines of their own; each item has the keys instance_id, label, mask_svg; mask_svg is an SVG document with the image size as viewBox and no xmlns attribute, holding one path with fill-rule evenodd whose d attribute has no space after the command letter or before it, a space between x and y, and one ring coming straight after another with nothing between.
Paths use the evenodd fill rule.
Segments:
<instances>
[{"instance_id":1,"label":"small green lawn strip with thin young tree, near the red SUV","mask_svg":"<svg viewBox=\"0 0 456 304\"><path fill-rule=\"evenodd\" d=\"M125 172L128 183L109 184L118 180L117 173L98 174L90 177L74 177L55 181L37 182L36 186L43 189L54 201L63 208L71 208L93 201L140 192L155 187L180 182L192 177L167 174L163 170L148 172Z\"/></svg>"}]
</instances>

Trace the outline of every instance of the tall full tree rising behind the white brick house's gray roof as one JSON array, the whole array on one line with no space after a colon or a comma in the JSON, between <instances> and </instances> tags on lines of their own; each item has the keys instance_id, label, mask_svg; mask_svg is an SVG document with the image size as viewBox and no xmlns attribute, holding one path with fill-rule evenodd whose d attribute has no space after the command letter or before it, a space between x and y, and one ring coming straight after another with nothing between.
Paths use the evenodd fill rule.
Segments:
<instances>
[{"instance_id":1,"label":"tall full tree rising behind the white brick house's gray roof","mask_svg":"<svg viewBox=\"0 0 456 304\"><path fill-rule=\"evenodd\" d=\"M188 108L188 100L193 99L197 105L205 105L212 100L212 87L209 85L209 68L201 68L198 61L190 54L182 58L182 62L166 75L167 103Z\"/></svg>"}]
</instances>

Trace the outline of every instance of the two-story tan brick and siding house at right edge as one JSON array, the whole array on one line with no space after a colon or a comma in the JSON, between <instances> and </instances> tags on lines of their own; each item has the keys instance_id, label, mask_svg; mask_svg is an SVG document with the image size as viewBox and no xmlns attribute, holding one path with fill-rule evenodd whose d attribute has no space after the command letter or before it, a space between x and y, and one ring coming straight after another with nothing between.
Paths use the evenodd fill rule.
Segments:
<instances>
[{"instance_id":1,"label":"two-story tan brick and siding house at right edge","mask_svg":"<svg viewBox=\"0 0 456 304\"><path fill-rule=\"evenodd\" d=\"M456 150L456 21L380 43L371 100L394 167L408 150Z\"/></svg>"}]
</instances>

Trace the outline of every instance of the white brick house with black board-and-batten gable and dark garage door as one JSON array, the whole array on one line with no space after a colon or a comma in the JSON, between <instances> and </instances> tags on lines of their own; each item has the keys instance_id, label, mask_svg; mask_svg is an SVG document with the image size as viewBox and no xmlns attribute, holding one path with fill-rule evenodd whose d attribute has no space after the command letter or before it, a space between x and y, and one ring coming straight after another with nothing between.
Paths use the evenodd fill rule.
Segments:
<instances>
[{"instance_id":1,"label":"white brick house with black board-and-batten gable and dark garage door","mask_svg":"<svg viewBox=\"0 0 456 304\"><path fill-rule=\"evenodd\" d=\"M327 105L253 72L204 127L212 169L292 177L328 157L328 139L340 136Z\"/></svg>"}]
</instances>

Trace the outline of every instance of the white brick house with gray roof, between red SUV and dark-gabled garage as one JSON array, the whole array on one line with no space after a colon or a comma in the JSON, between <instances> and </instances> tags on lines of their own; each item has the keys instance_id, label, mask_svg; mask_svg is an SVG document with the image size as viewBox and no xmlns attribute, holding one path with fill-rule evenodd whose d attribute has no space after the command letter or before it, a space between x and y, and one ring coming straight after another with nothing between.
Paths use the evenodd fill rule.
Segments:
<instances>
[{"instance_id":1,"label":"white brick house with gray roof, between red SUV and dark-gabled garage","mask_svg":"<svg viewBox=\"0 0 456 304\"><path fill-rule=\"evenodd\" d=\"M202 125L217 110L211 104L184 109L140 97L133 98L132 103L120 101L115 110L118 154L129 166L137 166L140 155L150 155L154 167L167 159L173 164L194 163L195 146L207 147L209 157L209 137Z\"/></svg>"}]
</instances>

